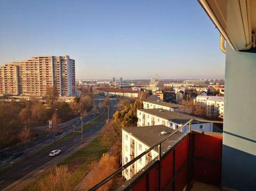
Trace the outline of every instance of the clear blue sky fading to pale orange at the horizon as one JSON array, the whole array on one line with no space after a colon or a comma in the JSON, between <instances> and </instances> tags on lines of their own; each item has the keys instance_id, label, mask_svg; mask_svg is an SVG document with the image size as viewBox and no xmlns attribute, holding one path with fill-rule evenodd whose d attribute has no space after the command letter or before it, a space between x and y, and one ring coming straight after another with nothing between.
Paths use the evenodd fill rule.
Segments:
<instances>
[{"instance_id":1,"label":"clear blue sky fading to pale orange at the horizon","mask_svg":"<svg viewBox=\"0 0 256 191\"><path fill-rule=\"evenodd\" d=\"M223 78L197 0L0 0L0 64L68 54L76 78Z\"/></svg>"}]
</instances>

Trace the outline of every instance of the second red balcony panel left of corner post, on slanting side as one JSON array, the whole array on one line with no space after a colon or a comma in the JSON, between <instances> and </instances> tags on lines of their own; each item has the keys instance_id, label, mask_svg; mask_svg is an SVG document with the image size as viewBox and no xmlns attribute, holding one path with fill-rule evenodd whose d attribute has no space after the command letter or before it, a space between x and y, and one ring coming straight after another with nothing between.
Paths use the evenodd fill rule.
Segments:
<instances>
[{"instance_id":1,"label":"second red balcony panel left of corner post, on slanting side","mask_svg":"<svg viewBox=\"0 0 256 191\"><path fill-rule=\"evenodd\" d=\"M164 190L166 185L173 178L173 152L161 160L161 190Z\"/></svg>"}]
</instances>

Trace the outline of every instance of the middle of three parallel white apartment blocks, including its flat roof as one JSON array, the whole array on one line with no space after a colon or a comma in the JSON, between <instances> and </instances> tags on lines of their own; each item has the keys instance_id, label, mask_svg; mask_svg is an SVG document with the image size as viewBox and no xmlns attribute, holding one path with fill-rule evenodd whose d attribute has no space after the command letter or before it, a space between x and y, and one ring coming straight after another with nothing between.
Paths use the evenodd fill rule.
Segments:
<instances>
[{"instance_id":1,"label":"middle of three parallel white apartment blocks, including its flat roof","mask_svg":"<svg viewBox=\"0 0 256 191\"><path fill-rule=\"evenodd\" d=\"M138 122L137 126L150 126L150 125L165 125L166 127L172 128L173 130L181 127L185 122L190 119L192 121L192 130L201 131L213 131L213 124L209 122L199 122L198 120L203 120L198 117L185 115L178 112L172 112L165 109L138 109L137 110ZM189 130L189 125L182 129L182 132L187 132Z\"/></svg>"}]
</instances>

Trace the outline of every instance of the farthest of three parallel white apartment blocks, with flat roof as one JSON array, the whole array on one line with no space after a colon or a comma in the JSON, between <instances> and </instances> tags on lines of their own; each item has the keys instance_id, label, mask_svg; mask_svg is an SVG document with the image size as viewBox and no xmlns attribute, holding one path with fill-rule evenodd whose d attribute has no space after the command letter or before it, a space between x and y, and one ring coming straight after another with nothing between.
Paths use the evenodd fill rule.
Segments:
<instances>
[{"instance_id":1,"label":"farthest of three parallel white apartment blocks, with flat roof","mask_svg":"<svg viewBox=\"0 0 256 191\"><path fill-rule=\"evenodd\" d=\"M160 109L166 109L169 111L181 111L182 106L174 103L168 103L168 102L159 102L159 101L143 101L143 108L144 109L154 109L154 108L160 108Z\"/></svg>"}]
</instances>

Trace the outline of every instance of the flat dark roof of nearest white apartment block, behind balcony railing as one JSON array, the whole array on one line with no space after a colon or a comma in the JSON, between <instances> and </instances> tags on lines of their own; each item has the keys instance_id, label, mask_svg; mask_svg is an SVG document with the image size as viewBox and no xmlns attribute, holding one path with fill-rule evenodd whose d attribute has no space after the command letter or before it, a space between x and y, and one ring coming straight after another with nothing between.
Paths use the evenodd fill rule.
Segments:
<instances>
[{"instance_id":1,"label":"flat dark roof of nearest white apartment block, behind balcony railing","mask_svg":"<svg viewBox=\"0 0 256 191\"><path fill-rule=\"evenodd\" d=\"M151 147L159 142L161 139L167 137L174 130L166 127L165 125L152 125L143 127L126 127L124 131L139 139L145 145ZM162 135L161 132L165 131L167 134ZM172 148L177 142L179 142L186 134L182 132L176 132L173 136L165 140L162 144L162 154L170 148ZM157 151L157 147L154 149Z\"/></svg>"}]
</instances>

